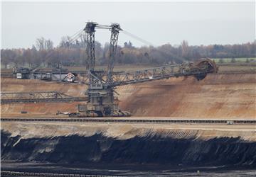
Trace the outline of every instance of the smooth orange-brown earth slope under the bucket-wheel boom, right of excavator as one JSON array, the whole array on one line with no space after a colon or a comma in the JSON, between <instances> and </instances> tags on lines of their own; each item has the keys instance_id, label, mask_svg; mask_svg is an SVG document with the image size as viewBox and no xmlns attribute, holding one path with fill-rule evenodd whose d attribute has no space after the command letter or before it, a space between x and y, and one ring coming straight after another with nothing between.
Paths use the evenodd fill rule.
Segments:
<instances>
[{"instance_id":1,"label":"smooth orange-brown earth slope under the bucket-wheel boom, right of excavator","mask_svg":"<svg viewBox=\"0 0 256 177\"><path fill-rule=\"evenodd\" d=\"M120 106L137 116L256 118L256 74L208 74L121 86Z\"/></svg>"}]
</instances>

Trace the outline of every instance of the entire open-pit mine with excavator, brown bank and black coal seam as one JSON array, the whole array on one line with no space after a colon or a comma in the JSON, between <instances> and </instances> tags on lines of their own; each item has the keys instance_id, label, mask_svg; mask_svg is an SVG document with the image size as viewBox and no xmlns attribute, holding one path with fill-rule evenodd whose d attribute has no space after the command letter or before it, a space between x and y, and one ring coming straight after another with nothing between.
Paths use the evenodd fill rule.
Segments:
<instances>
[{"instance_id":1,"label":"entire open-pit mine with excavator, brown bank and black coal seam","mask_svg":"<svg viewBox=\"0 0 256 177\"><path fill-rule=\"evenodd\" d=\"M107 71L95 69L95 28L111 31ZM2 176L255 175L254 71L205 58L114 72L122 28L84 31L86 72L1 77Z\"/></svg>"}]
</instances>

